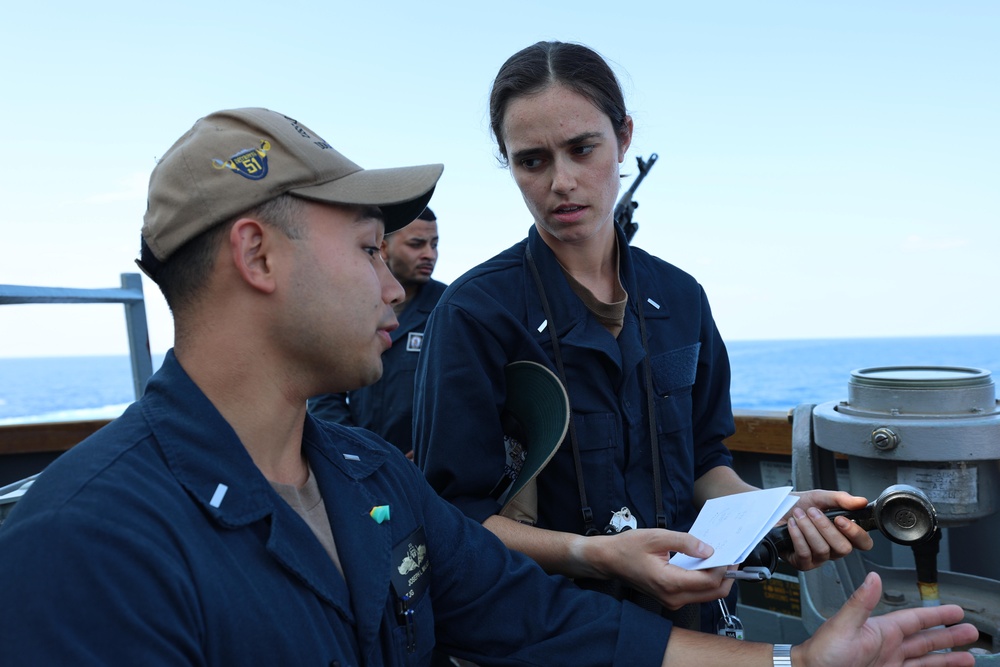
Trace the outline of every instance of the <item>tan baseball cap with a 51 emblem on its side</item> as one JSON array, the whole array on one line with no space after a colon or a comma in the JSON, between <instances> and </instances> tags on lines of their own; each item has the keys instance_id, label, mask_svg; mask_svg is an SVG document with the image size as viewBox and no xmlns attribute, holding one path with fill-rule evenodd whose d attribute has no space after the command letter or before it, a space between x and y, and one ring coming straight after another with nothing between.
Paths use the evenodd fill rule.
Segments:
<instances>
[{"instance_id":1,"label":"tan baseball cap with a 51 emblem on its side","mask_svg":"<svg viewBox=\"0 0 1000 667\"><path fill-rule=\"evenodd\" d=\"M159 265L185 243L285 193L378 206L386 233L396 231L424 210L443 169L362 169L294 118L259 108L217 111L153 169L136 263L155 280Z\"/></svg>"}]
</instances>

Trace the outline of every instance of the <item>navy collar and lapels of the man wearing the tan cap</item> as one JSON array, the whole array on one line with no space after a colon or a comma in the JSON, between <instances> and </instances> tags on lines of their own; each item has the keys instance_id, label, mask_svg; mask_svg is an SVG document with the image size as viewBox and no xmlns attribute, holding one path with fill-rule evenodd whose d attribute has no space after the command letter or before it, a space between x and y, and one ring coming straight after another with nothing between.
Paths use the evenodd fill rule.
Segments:
<instances>
[{"instance_id":1,"label":"navy collar and lapels of the man wearing the tan cap","mask_svg":"<svg viewBox=\"0 0 1000 667\"><path fill-rule=\"evenodd\" d=\"M263 476L242 442L211 401L178 363L173 351L150 380L142 398L143 414L174 477L221 526L238 529L270 518L260 530L271 555L351 624L359 636L377 628L385 605L366 592L388 590L391 538L368 516L385 499L370 497L363 480L386 460L378 448L351 429L334 442L312 417L305 418L304 451L320 493L337 549L345 583L333 561L305 522L287 506ZM380 528L382 528L380 530ZM350 554L367 553L358 567ZM383 581L384 580L384 581ZM348 588L351 594L348 595ZM357 617L357 620L355 618Z\"/></svg>"}]
</instances>

